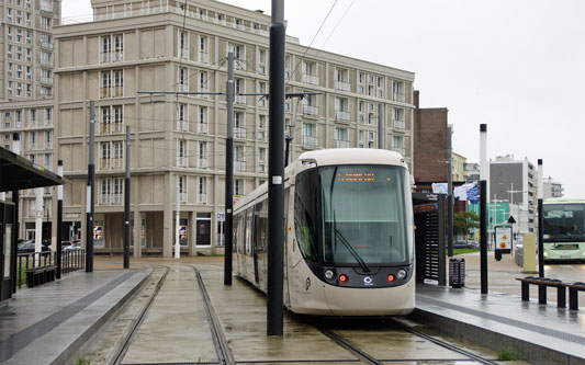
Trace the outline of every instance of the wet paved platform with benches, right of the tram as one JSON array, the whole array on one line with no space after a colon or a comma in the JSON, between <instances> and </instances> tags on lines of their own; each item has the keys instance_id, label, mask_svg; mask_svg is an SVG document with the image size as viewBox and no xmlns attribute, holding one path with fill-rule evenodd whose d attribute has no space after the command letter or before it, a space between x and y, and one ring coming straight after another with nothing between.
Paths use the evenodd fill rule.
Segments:
<instances>
[{"instance_id":1,"label":"wet paved platform with benches, right of the tram","mask_svg":"<svg viewBox=\"0 0 585 365\"><path fill-rule=\"evenodd\" d=\"M547 305L539 305L537 287L530 288L530 301L522 301L516 278L527 274L505 255L499 262L488 258L488 294L482 295L479 254L458 258L465 259L465 287L417 285L413 319L490 349L513 347L529 363L585 364L583 293L578 310L556 308L554 288L548 289Z\"/></svg>"}]
</instances>

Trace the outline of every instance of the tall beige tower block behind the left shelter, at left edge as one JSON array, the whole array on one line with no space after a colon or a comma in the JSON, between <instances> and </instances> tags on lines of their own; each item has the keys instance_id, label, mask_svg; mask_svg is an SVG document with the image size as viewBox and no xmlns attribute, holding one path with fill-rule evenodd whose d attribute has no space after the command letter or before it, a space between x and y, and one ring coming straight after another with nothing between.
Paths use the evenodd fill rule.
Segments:
<instances>
[{"instance_id":1,"label":"tall beige tower block behind the left shelter, at left edge","mask_svg":"<svg viewBox=\"0 0 585 365\"><path fill-rule=\"evenodd\" d=\"M0 142L12 150L14 134L21 155L56 170L54 133L54 39L60 0L0 1ZM5 176L2 176L5 179ZM45 189L43 238L52 236L53 189ZM34 191L21 192L19 236L34 237Z\"/></svg>"}]
</instances>

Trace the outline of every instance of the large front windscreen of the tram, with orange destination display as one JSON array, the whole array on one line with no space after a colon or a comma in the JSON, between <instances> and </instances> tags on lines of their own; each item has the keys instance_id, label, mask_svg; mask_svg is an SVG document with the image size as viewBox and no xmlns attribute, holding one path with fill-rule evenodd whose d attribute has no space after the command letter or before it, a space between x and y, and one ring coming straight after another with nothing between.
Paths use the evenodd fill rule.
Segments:
<instances>
[{"instance_id":1,"label":"large front windscreen of the tram, with orange destination display","mask_svg":"<svg viewBox=\"0 0 585 365\"><path fill-rule=\"evenodd\" d=\"M318 171L323 263L368 270L407 262L412 217L406 217L406 169L338 166Z\"/></svg>"}]
</instances>

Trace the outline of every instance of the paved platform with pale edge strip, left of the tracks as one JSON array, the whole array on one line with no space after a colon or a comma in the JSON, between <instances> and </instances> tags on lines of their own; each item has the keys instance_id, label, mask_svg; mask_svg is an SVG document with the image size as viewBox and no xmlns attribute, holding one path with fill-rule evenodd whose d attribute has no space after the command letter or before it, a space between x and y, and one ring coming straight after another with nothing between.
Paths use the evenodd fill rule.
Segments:
<instances>
[{"instance_id":1,"label":"paved platform with pale edge strip, left of the tracks","mask_svg":"<svg viewBox=\"0 0 585 365\"><path fill-rule=\"evenodd\" d=\"M150 274L121 264L94 269L18 289L0 303L0 363L65 364Z\"/></svg>"}]
</instances>

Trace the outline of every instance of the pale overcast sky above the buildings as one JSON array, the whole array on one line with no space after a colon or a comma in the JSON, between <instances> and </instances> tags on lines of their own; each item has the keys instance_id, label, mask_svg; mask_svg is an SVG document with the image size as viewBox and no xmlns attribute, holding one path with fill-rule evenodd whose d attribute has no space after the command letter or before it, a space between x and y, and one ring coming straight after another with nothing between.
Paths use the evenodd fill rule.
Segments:
<instances>
[{"instance_id":1,"label":"pale overcast sky above the buildings","mask_svg":"<svg viewBox=\"0 0 585 365\"><path fill-rule=\"evenodd\" d=\"M490 158L541 158L585 197L585 1L285 0L288 34L308 45L334 3L313 47L415 72L420 106L449 109L455 152L479 162L486 123ZM89 0L63 0L64 18L88 14Z\"/></svg>"}]
</instances>

